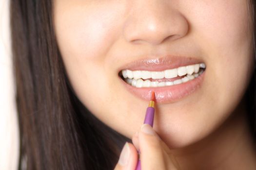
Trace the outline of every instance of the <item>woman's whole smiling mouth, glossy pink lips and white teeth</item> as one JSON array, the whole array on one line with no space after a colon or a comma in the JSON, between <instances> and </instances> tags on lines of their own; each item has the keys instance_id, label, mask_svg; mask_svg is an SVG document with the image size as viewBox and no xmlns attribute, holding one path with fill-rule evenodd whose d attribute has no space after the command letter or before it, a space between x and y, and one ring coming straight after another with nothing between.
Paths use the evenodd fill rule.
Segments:
<instances>
[{"instance_id":1,"label":"woman's whole smiling mouth, glossy pink lips and white teeth","mask_svg":"<svg viewBox=\"0 0 256 170\"><path fill-rule=\"evenodd\" d=\"M142 100L149 101L154 91L157 102L176 102L201 86L205 70L201 60L166 56L130 63L118 76L126 89Z\"/></svg>"}]
</instances>

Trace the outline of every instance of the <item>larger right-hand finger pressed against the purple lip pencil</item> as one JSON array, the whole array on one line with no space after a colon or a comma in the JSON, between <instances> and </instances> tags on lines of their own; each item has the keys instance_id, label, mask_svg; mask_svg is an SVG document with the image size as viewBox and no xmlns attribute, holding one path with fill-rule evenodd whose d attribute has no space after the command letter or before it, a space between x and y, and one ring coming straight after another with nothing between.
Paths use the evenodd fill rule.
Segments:
<instances>
[{"instance_id":1,"label":"larger right-hand finger pressed against the purple lip pencil","mask_svg":"<svg viewBox=\"0 0 256 170\"><path fill-rule=\"evenodd\" d=\"M142 170L167 170L171 160L163 151L161 139L148 124L141 126L139 136L140 161Z\"/></svg>"}]
</instances>

